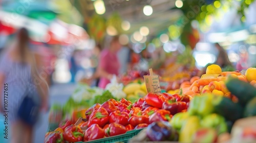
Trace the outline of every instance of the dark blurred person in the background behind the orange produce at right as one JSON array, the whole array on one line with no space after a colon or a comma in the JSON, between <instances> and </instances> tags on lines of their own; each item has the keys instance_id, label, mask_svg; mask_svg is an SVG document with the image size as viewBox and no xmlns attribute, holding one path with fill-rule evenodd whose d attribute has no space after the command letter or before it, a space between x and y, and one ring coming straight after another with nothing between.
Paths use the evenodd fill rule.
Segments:
<instances>
[{"instance_id":1,"label":"dark blurred person in the background behind the orange produce at right","mask_svg":"<svg viewBox=\"0 0 256 143\"><path fill-rule=\"evenodd\" d=\"M221 68L224 68L226 66L233 66L232 63L228 59L228 55L226 50L223 49L223 47L219 43L215 43L215 46L217 50L219 51L219 55L217 57L216 64L218 64Z\"/></svg>"}]
</instances>

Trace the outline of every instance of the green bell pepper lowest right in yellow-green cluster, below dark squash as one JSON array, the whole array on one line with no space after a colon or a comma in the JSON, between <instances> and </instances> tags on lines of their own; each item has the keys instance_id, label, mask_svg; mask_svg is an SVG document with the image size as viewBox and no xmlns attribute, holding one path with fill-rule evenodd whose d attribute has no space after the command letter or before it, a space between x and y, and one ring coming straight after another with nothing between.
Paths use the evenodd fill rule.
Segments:
<instances>
[{"instance_id":1,"label":"green bell pepper lowest right in yellow-green cluster, below dark squash","mask_svg":"<svg viewBox=\"0 0 256 143\"><path fill-rule=\"evenodd\" d=\"M228 131L225 118L219 114L212 113L203 117L201 121L202 127L215 128L218 134Z\"/></svg>"}]
</instances>

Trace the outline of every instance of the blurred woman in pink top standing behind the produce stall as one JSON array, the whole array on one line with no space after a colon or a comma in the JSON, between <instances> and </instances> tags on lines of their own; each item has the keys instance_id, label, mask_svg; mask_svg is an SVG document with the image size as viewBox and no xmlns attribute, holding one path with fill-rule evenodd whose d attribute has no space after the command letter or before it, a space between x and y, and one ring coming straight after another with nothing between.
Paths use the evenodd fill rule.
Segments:
<instances>
[{"instance_id":1,"label":"blurred woman in pink top standing behind the produce stall","mask_svg":"<svg viewBox=\"0 0 256 143\"><path fill-rule=\"evenodd\" d=\"M113 75L118 75L120 68L120 63L118 61L117 52L121 49L121 44L119 43L119 37L114 36L110 42L110 47L103 50L100 53L99 65L96 73L92 77L100 77L99 87L105 88L105 86L110 83Z\"/></svg>"}]
</instances>

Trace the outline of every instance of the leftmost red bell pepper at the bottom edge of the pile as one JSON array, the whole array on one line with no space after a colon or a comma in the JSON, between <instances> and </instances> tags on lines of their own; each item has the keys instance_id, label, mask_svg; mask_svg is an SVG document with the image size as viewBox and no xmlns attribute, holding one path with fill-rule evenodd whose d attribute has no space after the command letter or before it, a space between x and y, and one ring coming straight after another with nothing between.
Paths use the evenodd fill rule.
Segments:
<instances>
[{"instance_id":1,"label":"leftmost red bell pepper at the bottom edge of the pile","mask_svg":"<svg viewBox=\"0 0 256 143\"><path fill-rule=\"evenodd\" d=\"M48 132L45 136L45 143L64 143L63 133L59 131Z\"/></svg>"}]
</instances>

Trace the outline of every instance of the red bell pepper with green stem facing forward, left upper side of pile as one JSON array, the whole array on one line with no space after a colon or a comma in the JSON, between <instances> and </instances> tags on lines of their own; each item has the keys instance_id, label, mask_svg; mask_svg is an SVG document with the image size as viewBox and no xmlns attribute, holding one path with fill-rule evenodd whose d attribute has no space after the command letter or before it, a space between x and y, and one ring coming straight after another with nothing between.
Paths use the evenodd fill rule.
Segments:
<instances>
[{"instance_id":1,"label":"red bell pepper with green stem facing forward, left upper side of pile","mask_svg":"<svg viewBox=\"0 0 256 143\"><path fill-rule=\"evenodd\" d=\"M94 110L90 115L88 127L91 127L93 124L98 124L100 127L104 127L109 123L110 117L108 111L105 108L100 107L97 110Z\"/></svg>"}]
</instances>

